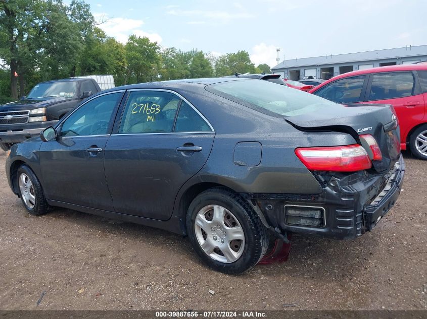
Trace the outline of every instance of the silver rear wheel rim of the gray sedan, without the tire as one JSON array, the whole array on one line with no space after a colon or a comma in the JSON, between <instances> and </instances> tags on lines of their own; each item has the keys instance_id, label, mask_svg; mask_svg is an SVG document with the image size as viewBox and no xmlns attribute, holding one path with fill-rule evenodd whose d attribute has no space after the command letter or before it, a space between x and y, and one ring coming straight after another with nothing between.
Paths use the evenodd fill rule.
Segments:
<instances>
[{"instance_id":1,"label":"silver rear wheel rim of the gray sedan, without the tire","mask_svg":"<svg viewBox=\"0 0 427 319\"><path fill-rule=\"evenodd\" d=\"M220 205L202 208L195 220L196 238L213 260L228 264L238 260L245 248L245 233L235 216Z\"/></svg>"}]
</instances>

